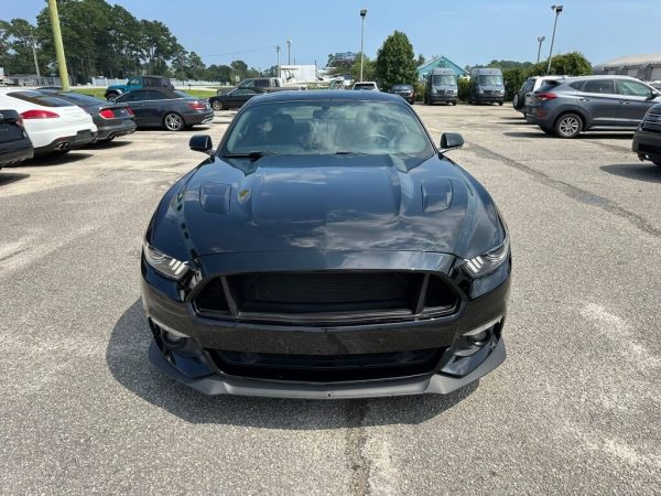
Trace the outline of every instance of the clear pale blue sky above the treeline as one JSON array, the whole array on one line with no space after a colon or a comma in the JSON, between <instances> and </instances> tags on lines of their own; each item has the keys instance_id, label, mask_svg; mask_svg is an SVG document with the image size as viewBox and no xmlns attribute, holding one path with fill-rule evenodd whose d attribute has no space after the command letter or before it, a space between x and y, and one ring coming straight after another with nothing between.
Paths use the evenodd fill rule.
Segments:
<instances>
[{"instance_id":1,"label":"clear pale blue sky above the treeline","mask_svg":"<svg viewBox=\"0 0 661 496\"><path fill-rule=\"evenodd\" d=\"M562 1L562 0L560 0ZM34 22L45 0L0 0L0 18ZM549 54L551 0L116 0L139 19L166 23L180 43L208 64L240 58L275 65L285 40L299 64L324 65L329 53L360 50L359 10L367 8L365 53L373 57L388 34L403 31L415 54L445 55L460 66L494 58L532 61L537 37ZM661 52L661 0L565 0L554 53L583 52L597 64L622 55ZM655 43L657 42L657 43ZM259 50L261 48L261 50Z\"/></svg>"}]
</instances>

